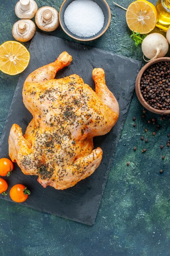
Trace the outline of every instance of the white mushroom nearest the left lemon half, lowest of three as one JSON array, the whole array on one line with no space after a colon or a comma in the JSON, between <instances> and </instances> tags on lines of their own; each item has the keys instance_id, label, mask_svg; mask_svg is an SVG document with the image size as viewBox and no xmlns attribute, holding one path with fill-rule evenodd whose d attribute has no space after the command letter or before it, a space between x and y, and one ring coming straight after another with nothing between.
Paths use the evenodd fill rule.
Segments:
<instances>
[{"instance_id":1,"label":"white mushroom nearest the left lemon half, lowest of three","mask_svg":"<svg viewBox=\"0 0 170 256\"><path fill-rule=\"evenodd\" d=\"M35 24L32 20L18 20L13 25L12 35L20 42L27 42L35 34Z\"/></svg>"}]
</instances>

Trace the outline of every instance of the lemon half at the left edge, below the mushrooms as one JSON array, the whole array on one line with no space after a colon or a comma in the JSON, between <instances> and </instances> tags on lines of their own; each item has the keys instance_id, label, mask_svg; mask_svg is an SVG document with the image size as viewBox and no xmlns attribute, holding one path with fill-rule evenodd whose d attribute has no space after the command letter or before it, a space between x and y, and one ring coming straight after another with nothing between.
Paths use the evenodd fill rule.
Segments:
<instances>
[{"instance_id":1,"label":"lemon half at the left edge, below the mushrooms","mask_svg":"<svg viewBox=\"0 0 170 256\"><path fill-rule=\"evenodd\" d=\"M29 51L19 42L7 41L0 45L0 70L9 75L20 74L29 65Z\"/></svg>"}]
</instances>

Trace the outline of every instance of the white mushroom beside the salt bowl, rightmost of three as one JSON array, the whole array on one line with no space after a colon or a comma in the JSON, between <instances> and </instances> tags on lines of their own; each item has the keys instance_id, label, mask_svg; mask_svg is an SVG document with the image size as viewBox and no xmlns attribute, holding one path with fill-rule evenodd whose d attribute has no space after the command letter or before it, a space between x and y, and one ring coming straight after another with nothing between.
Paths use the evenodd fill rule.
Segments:
<instances>
[{"instance_id":1,"label":"white mushroom beside the salt bowl, rightmost of three","mask_svg":"<svg viewBox=\"0 0 170 256\"><path fill-rule=\"evenodd\" d=\"M35 22L43 31L54 31L59 26L58 12L53 7L41 7L35 15Z\"/></svg>"}]
</instances>

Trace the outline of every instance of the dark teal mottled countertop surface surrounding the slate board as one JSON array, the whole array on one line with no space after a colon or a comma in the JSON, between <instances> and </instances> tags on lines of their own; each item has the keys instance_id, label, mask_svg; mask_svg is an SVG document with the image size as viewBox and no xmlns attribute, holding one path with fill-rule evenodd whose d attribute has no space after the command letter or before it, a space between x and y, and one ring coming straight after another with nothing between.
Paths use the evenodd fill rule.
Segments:
<instances>
[{"instance_id":1,"label":"dark teal mottled countertop surface surrounding the slate board","mask_svg":"<svg viewBox=\"0 0 170 256\"><path fill-rule=\"evenodd\" d=\"M18 20L15 2L0 0L0 43L13 40L11 30ZM117 2L128 7L132 1ZM62 0L37 0L37 3L38 7L49 5L59 11ZM112 0L108 0L108 4L112 12L109 29L101 38L86 45L142 60L141 47L135 47L130 39L125 11L115 7ZM61 28L50 34L71 40ZM29 43L24 45L28 47ZM0 134L18 77L0 73ZM134 94L95 225L86 226L0 200L0 255L169 256L170 148L166 147L169 120L148 112L146 117L142 114L143 108ZM137 117L135 128L134 116ZM148 124L147 120L152 118L160 124L159 130L152 121ZM148 128L146 133L145 128ZM141 135L148 138L147 144L141 141ZM145 154L141 153L143 148L147 148ZM162 155L166 156L164 160ZM163 174L159 173L160 169Z\"/></svg>"}]
</instances>

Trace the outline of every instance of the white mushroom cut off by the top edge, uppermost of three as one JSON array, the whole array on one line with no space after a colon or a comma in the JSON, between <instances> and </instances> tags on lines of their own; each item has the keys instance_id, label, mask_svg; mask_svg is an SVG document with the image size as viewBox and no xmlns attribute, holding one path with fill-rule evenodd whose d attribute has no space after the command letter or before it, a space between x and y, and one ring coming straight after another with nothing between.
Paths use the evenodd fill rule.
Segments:
<instances>
[{"instance_id":1,"label":"white mushroom cut off by the top edge, uppermost of three","mask_svg":"<svg viewBox=\"0 0 170 256\"><path fill-rule=\"evenodd\" d=\"M20 19L32 19L38 10L34 0L20 0L15 5L15 14Z\"/></svg>"}]
</instances>

